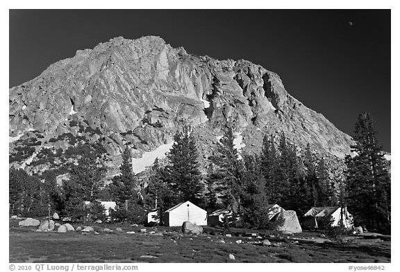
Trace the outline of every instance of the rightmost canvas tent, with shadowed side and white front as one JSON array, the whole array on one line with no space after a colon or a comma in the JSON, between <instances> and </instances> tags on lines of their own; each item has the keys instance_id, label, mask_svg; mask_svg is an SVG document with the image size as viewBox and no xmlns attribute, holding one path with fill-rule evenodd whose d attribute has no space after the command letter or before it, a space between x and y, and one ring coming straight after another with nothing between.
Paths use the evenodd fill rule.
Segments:
<instances>
[{"instance_id":1,"label":"rightmost canvas tent, with shadowed side and white front","mask_svg":"<svg viewBox=\"0 0 400 272\"><path fill-rule=\"evenodd\" d=\"M304 216L308 218L304 219L303 225L308 228L318 228L317 219L328 216L331 216L334 220L332 226L338 226L340 220L342 220L345 228L353 227L353 216L347 211L347 207L313 207Z\"/></svg>"}]
</instances>

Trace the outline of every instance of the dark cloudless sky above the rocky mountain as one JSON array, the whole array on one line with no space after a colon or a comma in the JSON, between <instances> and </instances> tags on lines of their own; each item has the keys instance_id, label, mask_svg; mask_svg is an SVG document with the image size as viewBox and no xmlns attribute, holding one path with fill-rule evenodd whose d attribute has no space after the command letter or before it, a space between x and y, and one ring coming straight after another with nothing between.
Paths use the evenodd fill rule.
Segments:
<instances>
[{"instance_id":1,"label":"dark cloudless sky above the rocky mountain","mask_svg":"<svg viewBox=\"0 0 400 272\"><path fill-rule=\"evenodd\" d=\"M260 64L347 134L368 111L390 152L390 10L10 10L9 86L78 49L145 35Z\"/></svg>"}]
</instances>

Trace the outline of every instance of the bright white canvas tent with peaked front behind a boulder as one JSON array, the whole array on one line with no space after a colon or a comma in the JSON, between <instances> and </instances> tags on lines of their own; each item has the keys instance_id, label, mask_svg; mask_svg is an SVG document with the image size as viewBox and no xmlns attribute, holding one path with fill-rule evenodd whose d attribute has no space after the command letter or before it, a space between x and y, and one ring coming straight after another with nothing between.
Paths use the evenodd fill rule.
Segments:
<instances>
[{"instance_id":1,"label":"bright white canvas tent with peaked front behind a boulder","mask_svg":"<svg viewBox=\"0 0 400 272\"><path fill-rule=\"evenodd\" d=\"M198 226L206 226L207 212L190 201L179 203L164 212L165 226L182 226L184 221L190 221Z\"/></svg>"}]
</instances>

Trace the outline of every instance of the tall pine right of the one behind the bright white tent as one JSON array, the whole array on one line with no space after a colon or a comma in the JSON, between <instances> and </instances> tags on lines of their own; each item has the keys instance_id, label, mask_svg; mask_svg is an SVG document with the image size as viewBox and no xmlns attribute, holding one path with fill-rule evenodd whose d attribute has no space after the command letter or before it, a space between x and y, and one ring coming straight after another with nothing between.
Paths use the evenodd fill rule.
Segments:
<instances>
[{"instance_id":1,"label":"tall pine right of the one behind the bright white tent","mask_svg":"<svg viewBox=\"0 0 400 272\"><path fill-rule=\"evenodd\" d=\"M233 212L240 210L240 198L242 195L243 163L239 160L238 150L233 145L233 131L231 127L226 129L224 136L217 143L215 154L210 156L210 162L215 165L215 174L219 179L219 190L222 191L222 200L225 206L231 206Z\"/></svg>"}]
</instances>

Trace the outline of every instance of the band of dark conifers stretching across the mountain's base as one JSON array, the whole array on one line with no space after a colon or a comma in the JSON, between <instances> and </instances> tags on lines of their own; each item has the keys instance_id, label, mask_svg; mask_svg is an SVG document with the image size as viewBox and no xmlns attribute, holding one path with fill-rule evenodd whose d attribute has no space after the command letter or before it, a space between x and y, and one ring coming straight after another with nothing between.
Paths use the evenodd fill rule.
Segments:
<instances>
[{"instance_id":1,"label":"band of dark conifers stretching across the mountain's base","mask_svg":"<svg viewBox=\"0 0 400 272\"><path fill-rule=\"evenodd\" d=\"M157 210L163 224L165 210L189 200L208 212L230 208L251 228L269 226L266 209L272 203L299 216L313 206L348 206L356 224L390 226L390 174L369 114L360 114L353 138L353 156L345 158L347 170L338 179L310 145L301 150L285 134L278 143L266 135L260 154L239 154L233 129L227 127L202 173L192 130L184 127L176 132L163 166L158 158L154 161L145 188L132 171L128 149L122 154L121 174L104 186L101 156L85 148L63 186L56 185L51 173L39 179L10 168L10 214L47 215L50 204L75 219L106 219L98 200L113 199L113 221L140 223L146 212Z\"/></svg>"}]
</instances>

